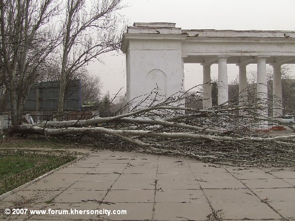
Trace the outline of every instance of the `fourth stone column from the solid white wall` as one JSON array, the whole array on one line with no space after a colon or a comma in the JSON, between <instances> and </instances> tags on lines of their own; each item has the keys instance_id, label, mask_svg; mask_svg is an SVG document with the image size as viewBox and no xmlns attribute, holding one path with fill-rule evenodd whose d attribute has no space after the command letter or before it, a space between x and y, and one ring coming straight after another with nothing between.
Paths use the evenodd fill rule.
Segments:
<instances>
[{"instance_id":1,"label":"fourth stone column from the solid white wall","mask_svg":"<svg viewBox=\"0 0 295 221\"><path fill-rule=\"evenodd\" d=\"M266 57L258 57L257 59L257 99L258 107L261 110L258 110L258 113L268 116L267 111L267 79L266 79ZM260 125L262 128L268 127L268 122L261 122Z\"/></svg>"}]
</instances>

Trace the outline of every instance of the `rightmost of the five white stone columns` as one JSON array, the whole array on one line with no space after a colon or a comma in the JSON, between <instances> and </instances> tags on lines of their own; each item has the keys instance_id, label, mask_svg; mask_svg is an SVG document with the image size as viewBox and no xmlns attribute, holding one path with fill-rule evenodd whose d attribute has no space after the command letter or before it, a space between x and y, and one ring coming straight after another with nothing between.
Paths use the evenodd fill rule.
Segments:
<instances>
[{"instance_id":1,"label":"rightmost of the five white stone columns","mask_svg":"<svg viewBox=\"0 0 295 221\"><path fill-rule=\"evenodd\" d=\"M282 95L282 73L281 64L272 64L273 67L273 82L272 82L272 95L273 95L273 116L278 117L276 120L282 120L283 115L283 95Z\"/></svg>"}]
</instances>

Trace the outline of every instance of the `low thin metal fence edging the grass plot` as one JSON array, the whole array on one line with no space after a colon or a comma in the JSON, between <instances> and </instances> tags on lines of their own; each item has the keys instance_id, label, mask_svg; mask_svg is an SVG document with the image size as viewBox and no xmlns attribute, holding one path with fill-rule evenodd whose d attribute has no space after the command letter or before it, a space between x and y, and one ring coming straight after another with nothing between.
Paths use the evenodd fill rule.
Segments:
<instances>
[{"instance_id":1,"label":"low thin metal fence edging the grass plot","mask_svg":"<svg viewBox=\"0 0 295 221\"><path fill-rule=\"evenodd\" d=\"M21 186L30 180L54 169L65 163L71 162L76 159L76 151L44 151L44 150L27 150L27 149L0 149L0 157L2 156L32 156L41 155L47 157L54 157L53 159L44 163L38 164L32 168L24 170L15 175L9 176L0 180L0 194L6 193L18 186Z\"/></svg>"}]
</instances>

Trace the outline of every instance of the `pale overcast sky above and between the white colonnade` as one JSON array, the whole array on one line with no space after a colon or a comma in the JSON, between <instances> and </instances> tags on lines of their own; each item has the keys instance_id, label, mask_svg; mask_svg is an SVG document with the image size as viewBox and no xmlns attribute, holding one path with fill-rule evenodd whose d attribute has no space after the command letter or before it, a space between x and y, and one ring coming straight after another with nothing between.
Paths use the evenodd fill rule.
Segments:
<instances>
[{"instance_id":1,"label":"pale overcast sky above and between the white colonnade","mask_svg":"<svg viewBox=\"0 0 295 221\"><path fill-rule=\"evenodd\" d=\"M120 11L130 26L134 22L169 22L183 29L227 30L295 30L295 0L123 0L127 7ZM104 55L104 64L92 62L90 73L100 76L102 93L126 92L125 56ZM217 65L211 76L217 78ZM248 65L248 70L256 70ZM202 83L200 64L185 64L185 88ZM238 68L228 65L229 82L236 79Z\"/></svg>"}]
</instances>

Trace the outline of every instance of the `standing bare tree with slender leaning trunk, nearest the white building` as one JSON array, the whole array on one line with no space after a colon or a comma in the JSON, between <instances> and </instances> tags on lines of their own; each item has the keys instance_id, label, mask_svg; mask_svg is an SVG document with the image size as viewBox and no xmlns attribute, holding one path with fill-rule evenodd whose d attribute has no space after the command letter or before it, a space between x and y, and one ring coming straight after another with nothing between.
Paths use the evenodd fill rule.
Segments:
<instances>
[{"instance_id":1,"label":"standing bare tree with slender leaning trunk, nearest the white building","mask_svg":"<svg viewBox=\"0 0 295 221\"><path fill-rule=\"evenodd\" d=\"M98 55L118 50L121 0L66 0L62 37L58 112L63 111L64 90L72 73Z\"/></svg>"}]
</instances>

